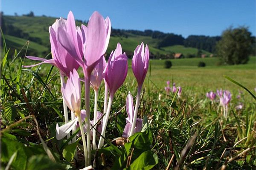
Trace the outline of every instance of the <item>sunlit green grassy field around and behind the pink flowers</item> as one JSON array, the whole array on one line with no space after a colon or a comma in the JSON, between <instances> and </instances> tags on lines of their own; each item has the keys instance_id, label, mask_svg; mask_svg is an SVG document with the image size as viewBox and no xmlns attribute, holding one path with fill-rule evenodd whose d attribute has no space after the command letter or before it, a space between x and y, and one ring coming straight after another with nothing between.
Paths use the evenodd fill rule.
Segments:
<instances>
[{"instance_id":1,"label":"sunlit green grassy field around and behind the pink flowers","mask_svg":"<svg viewBox=\"0 0 256 170\"><path fill-rule=\"evenodd\" d=\"M112 39L119 41L117 37ZM122 43L129 46L130 42L122 40ZM29 48L39 48L36 45L32 43ZM130 45L131 49L134 48ZM114 48L114 45L110 44L110 47ZM243 88L225 79L223 74L255 94L256 57L250 57L246 65L231 66L219 65L219 59L215 57L171 61L172 68L166 69L165 60L151 60L138 113L138 117L147 122L147 128L144 132L135 133L130 142L123 145L113 139L122 136L125 127L125 98L128 91L133 96L137 91L131 60L128 61L128 76L115 94L111 109L106 133L108 143L100 150L93 150L93 167L253 169L256 166L255 101ZM205 62L206 67L198 68L200 61ZM55 139L56 123L64 122L57 68L52 69L50 65L21 68L21 65L35 63L23 56L1 63L1 165L23 170L35 167L38 170L82 168L81 141L74 145L68 144L66 139ZM164 87L167 80L183 88L180 97L172 93L166 95ZM103 107L103 88L102 85L99 93L100 111ZM205 96L206 92L220 88L232 93L227 119L223 116L218 99L211 102ZM241 99L236 98L239 91L242 91ZM92 90L90 100L93 101ZM239 102L244 106L236 110ZM93 102L90 108L93 113ZM78 156L74 158L76 148ZM49 152L54 155L55 162Z\"/></svg>"}]
</instances>

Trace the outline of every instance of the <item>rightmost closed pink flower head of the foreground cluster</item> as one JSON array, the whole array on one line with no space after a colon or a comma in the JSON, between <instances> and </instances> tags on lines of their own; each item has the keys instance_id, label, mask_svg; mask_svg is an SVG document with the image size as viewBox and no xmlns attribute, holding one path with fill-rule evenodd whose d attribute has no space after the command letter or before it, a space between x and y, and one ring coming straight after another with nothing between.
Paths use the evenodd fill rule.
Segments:
<instances>
[{"instance_id":1,"label":"rightmost closed pink flower head of the foreground cluster","mask_svg":"<svg viewBox=\"0 0 256 170\"><path fill-rule=\"evenodd\" d=\"M148 45L144 47L142 42L134 50L134 56L132 57L131 67L134 72L134 76L137 79L138 86L142 86L144 79L148 71L148 60L149 60L149 50Z\"/></svg>"}]
</instances>

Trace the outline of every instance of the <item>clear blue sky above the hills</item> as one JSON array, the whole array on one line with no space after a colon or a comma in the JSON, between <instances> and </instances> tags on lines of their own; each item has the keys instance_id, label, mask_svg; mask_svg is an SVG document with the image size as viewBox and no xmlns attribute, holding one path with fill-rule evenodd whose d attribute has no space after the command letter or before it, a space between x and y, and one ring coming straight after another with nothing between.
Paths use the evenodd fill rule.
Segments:
<instances>
[{"instance_id":1,"label":"clear blue sky above the hills","mask_svg":"<svg viewBox=\"0 0 256 170\"><path fill-rule=\"evenodd\" d=\"M109 16L113 28L159 30L175 34L221 35L249 26L256 35L256 0L1 0L6 15L45 14L88 20L93 11Z\"/></svg>"}]
</instances>

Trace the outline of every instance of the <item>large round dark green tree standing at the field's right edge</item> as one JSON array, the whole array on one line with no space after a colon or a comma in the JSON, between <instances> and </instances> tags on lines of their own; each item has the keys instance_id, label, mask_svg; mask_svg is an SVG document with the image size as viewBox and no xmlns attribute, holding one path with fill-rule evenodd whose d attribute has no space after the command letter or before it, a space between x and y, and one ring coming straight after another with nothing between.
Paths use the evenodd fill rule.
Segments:
<instances>
[{"instance_id":1,"label":"large round dark green tree standing at the field's right edge","mask_svg":"<svg viewBox=\"0 0 256 170\"><path fill-rule=\"evenodd\" d=\"M217 54L224 64L245 64L249 60L253 37L247 27L228 28L217 43Z\"/></svg>"}]
</instances>

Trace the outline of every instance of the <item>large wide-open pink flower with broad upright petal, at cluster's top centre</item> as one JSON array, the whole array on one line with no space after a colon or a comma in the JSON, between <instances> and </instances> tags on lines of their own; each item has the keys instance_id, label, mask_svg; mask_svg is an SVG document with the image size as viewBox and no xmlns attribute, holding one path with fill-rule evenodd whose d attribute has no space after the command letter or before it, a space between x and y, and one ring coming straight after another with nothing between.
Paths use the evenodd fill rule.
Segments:
<instances>
[{"instance_id":1,"label":"large wide-open pink flower with broad upright petal, at cluster's top centre","mask_svg":"<svg viewBox=\"0 0 256 170\"><path fill-rule=\"evenodd\" d=\"M84 72L89 75L105 54L110 34L110 19L107 17L104 20L102 15L95 11L90 17L87 27L81 26L82 39L79 43L82 44L81 50L83 55L79 54L75 44L72 43L73 35L65 34L65 31L60 29L58 39L71 56L79 62Z\"/></svg>"}]
</instances>

